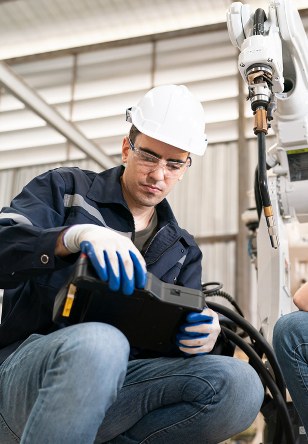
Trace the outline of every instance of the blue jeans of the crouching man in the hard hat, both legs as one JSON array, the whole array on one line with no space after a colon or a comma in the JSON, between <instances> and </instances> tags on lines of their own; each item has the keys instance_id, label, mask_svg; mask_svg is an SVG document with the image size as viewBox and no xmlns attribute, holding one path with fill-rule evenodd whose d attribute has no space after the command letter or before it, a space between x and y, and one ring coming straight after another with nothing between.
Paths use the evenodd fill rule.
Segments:
<instances>
[{"instance_id":1,"label":"blue jeans of the crouching man in the hard hat, both legs","mask_svg":"<svg viewBox=\"0 0 308 444\"><path fill-rule=\"evenodd\" d=\"M32 335L0 366L0 443L214 444L260 409L263 386L244 361L128 353L102 323Z\"/></svg>"}]
</instances>

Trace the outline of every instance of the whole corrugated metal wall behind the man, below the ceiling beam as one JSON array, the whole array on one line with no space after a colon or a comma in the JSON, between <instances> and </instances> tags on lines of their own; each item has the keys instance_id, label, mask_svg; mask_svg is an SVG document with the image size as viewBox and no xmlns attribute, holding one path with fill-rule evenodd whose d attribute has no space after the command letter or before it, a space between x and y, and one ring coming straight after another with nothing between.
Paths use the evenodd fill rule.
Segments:
<instances>
[{"instance_id":1,"label":"whole corrugated metal wall behind the man, below the ceiling beam","mask_svg":"<svg viewBox=\"0 0 308 444\"><path fill-rule=\"evenodd\" d=\"M221 281L235 296L238 71L227 30L25 60L12 67L119 163L122 138L129 130L127 107L164 83L184 83L196 94L204 105L209 145L203 158L193 157L169 202L204 254L203 281ZM247 115L247 134L254 137L249 107ZM251 177L254 145L252 139ZM101 169L5 91L0 97L0 158L0 206L44 170L60 165Z\"/></svg>"}]
</instances>

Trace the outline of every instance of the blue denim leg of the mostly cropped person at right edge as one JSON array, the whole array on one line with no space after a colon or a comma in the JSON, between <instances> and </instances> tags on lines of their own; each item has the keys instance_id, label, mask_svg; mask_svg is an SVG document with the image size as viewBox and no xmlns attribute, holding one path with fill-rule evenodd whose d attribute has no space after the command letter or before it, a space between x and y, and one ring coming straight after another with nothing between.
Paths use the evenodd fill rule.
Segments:
<instances>
[{"instance_id":1,"label":"blue denim leg of the mostly cropped person at right edge","mask_svg":"<svg viewBox=\"0 0 308 444\"><path fill-rule=\"evenodd\" d=\"M278 319L273 348L308 435L308 312L295 311Z\"/></svg>"}]
</instances>

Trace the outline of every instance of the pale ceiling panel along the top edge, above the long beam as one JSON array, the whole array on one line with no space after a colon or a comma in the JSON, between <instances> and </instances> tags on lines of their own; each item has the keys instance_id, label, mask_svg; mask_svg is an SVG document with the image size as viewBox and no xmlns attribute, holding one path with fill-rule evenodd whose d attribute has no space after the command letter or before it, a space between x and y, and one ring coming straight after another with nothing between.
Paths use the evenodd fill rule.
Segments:
<instances>
[{"instance_id":1,"label":"pale ceiling panel along the top edge, above the long beam","mask_svg":"<svg viewBox=\"0 0 308 444\"><path fill-rule=\"evenodd\" d=\"M268 2L250 0L268 10ZM224 23L230 0L6 0L0 59ZM307 0L295 0L298 9Z\"/></svg>"}]
</instances>

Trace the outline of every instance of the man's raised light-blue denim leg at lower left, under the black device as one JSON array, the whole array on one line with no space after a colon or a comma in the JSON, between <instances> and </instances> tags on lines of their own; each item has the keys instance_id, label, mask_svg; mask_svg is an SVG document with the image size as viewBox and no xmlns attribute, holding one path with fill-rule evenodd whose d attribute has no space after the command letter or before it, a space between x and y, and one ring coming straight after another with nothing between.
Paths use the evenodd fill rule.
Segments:
<instances>
[{"instance_id":1,"label":"man's raised light-blue denim leg at lower left, under the black device","mask_svg":"<svg viewBox=\"0 0 308 444\"><path fill-rule=\"evenodd\" d=\"M0 366L0 443L93 444L128 353L126 337L101 323L32 335Z\"/></svg>"}]
</instances>

